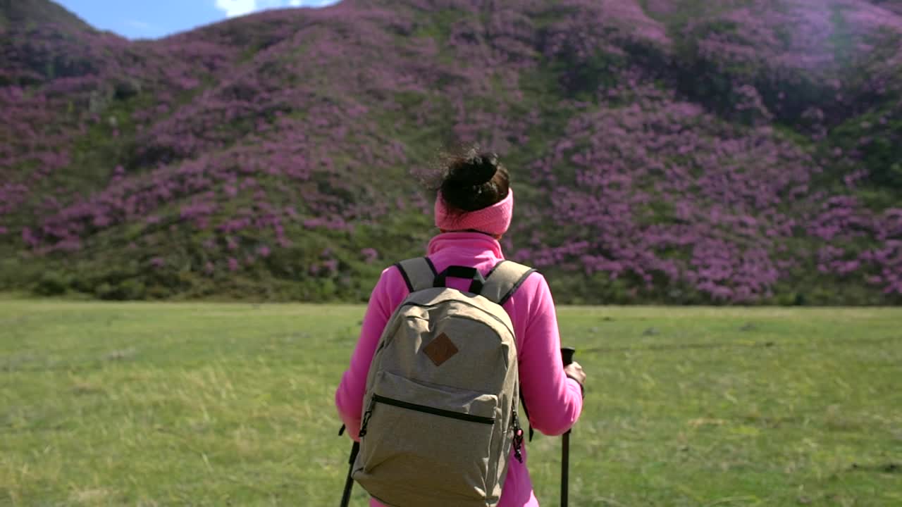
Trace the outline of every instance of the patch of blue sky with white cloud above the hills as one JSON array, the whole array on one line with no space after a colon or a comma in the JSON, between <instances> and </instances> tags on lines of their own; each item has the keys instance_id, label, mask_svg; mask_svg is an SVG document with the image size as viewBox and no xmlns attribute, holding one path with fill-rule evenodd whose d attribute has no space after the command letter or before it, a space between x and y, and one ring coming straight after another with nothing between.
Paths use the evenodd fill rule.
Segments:
<instances>
[{"instance_id":1,"label":"patch of blue sky with white cloud above the hills","mask_svg":"<svg viewBox=\"0 0 902 507\"><path fill-rule=\"evenodd\" d=\"M101 30L130 39L158 38L254 11L319 7L337 0L56 0Z\"/></svg>"}]
</instances>

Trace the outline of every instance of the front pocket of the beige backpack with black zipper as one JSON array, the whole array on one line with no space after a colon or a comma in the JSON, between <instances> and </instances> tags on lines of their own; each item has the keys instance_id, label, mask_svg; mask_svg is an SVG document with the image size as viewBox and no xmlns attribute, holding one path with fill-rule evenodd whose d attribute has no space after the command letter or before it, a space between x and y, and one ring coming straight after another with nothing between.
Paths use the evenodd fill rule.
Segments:
<instances>
[{"instance_id":1,"label":"front pocket of the beige backpack with black zipper","mask_svg":"<svg viewBox=\"0 0 902 507\"><path fill-rule=\"evenodd\" d=\"M426 499L405 495L431 491L465 503L492 494L497 396L383 371L366 403L354 478L376 497L418 504Z\"/></svg>"}]
</instances>

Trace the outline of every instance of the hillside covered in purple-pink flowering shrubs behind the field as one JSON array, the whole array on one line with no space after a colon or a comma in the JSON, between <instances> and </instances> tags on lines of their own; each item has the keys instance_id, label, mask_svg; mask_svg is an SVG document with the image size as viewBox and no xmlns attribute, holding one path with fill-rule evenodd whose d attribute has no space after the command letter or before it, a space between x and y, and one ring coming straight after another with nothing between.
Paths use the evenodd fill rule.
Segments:
<instances>
[{"instance_id":1,"label":"hillside covered in purple-pink flowering shrubs behind the field","mask_svg":"<svg viewBox=\"0 0 902 507\"><path fill-rule=\"evenodd\" d=\"M135 42L9 24L0 290L365 300L434 232L410 171L480 143L518 189L505 250L558 300L898 303L890 5L345 0Z\"/></svg>"}]
</instances>

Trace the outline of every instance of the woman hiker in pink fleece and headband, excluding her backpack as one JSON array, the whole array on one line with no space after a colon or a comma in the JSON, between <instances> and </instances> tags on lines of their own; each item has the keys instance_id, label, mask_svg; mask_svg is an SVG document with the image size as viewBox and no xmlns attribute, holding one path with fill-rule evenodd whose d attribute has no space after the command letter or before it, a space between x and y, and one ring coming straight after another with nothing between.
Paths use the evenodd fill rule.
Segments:
<instances>
[{"instance_id":1,"label":"woman hiker in pink fleece and headband, excluding her backpack","mask_svg":"<svg viewBox=\"0 0 902 507\"><path fill-rule=\"evenodd\" d=\"M509 173L492 153L452 159L439 186L435 219L441 234L428 244L428 258L437 272L450 265L474 267L486 273L503 260L498 240L511 225L513 190ZM447 286L466 290L469 281L448 280ZM366 309L360 340L350 368L336 392L336 407L352 438L357 439L363 412L364 389L370 363L382 330L391 314L408 295L407 283L391 267L373 289ZM570 429L583 408L585 374L573 363L561 364L557 317L548 283L538 272L526 279L503 308L511 317L517 340L520 390L529 410L529 423L546 435ZM499 507L536 506L526 467L509 460ZM381 503L371 500L371 505Z\"/></svg>"}]
</instances>

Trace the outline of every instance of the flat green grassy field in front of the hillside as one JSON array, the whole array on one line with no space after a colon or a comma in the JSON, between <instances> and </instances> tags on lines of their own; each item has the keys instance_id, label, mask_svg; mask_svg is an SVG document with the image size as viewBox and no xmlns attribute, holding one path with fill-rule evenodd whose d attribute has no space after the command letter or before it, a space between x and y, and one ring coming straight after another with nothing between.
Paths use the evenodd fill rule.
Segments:
<instances>
[{"instance_id":1,"label":"flat green grassy field in front of the hillside","mask_svg":"<svg viewBox=\"0 0 902 507\"><path fill-rule=\"evenodd\" d=\"M0 505L336 505L362 315L0 300ZM590 375L572 505L902 505L902 309L559 318ZM543 505L559 452L529 445Z\"/></svg>"}]
</instances>

